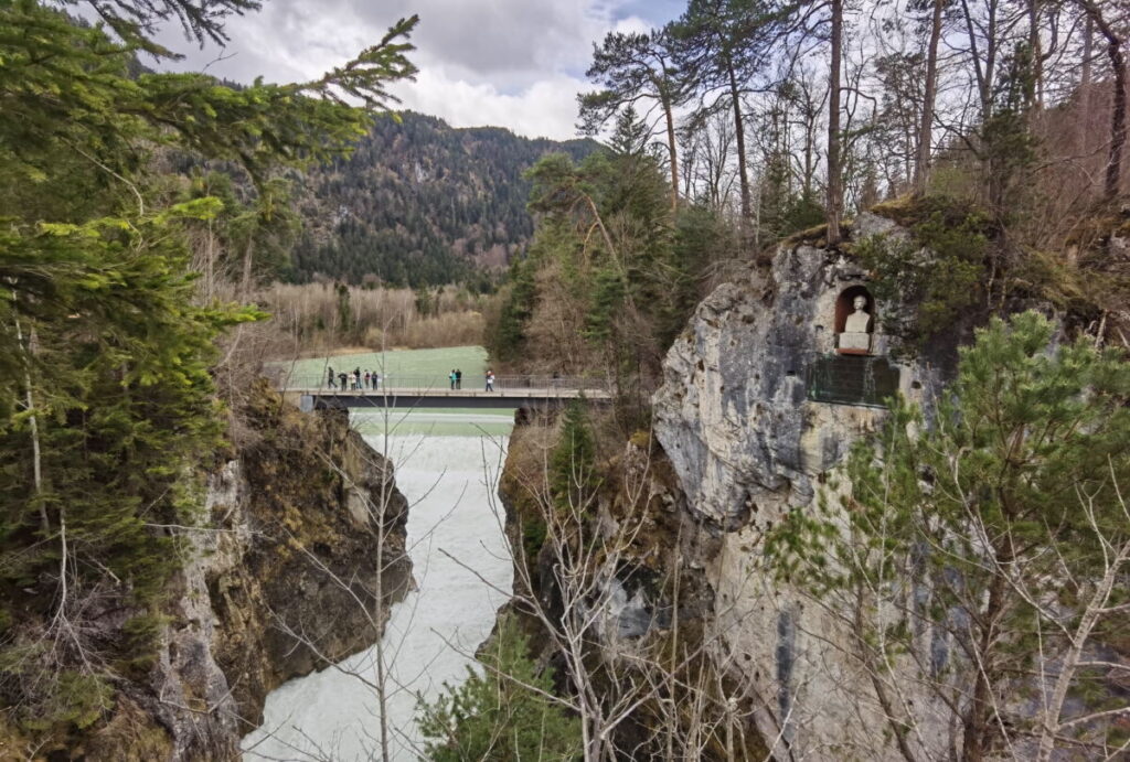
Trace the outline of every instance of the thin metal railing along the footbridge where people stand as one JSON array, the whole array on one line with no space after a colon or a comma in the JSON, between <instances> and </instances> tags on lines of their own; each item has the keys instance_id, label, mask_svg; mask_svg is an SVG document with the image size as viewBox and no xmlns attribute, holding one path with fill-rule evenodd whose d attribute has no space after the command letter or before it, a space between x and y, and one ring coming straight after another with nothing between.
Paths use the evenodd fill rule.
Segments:
<instances>
[{"instance_id":1,"label":"thin metal railing along the footbridge where people stand","mask_svg":"<svg viewBox=\"0 0 1130 762\"><path fill-rule=\"evenodd\" d=\"M376 384L365 384L364 377L356 386L347 378L342 388L341 378L336 376L333 385L324 374L318 375L280 375L276 386L281 391L318 391L320 394L380 394L381 392L398 393L442 393L442 392L485 392L486 378L464 375L459 388L454 388L446 376L425 374L382 374ZM493 391L496 393L521 394L536 392L538 396L574 396L577 392L607 394L610 385L603 378L581 378L576 376L495 376Z\"/></svg>"}]
</instances>

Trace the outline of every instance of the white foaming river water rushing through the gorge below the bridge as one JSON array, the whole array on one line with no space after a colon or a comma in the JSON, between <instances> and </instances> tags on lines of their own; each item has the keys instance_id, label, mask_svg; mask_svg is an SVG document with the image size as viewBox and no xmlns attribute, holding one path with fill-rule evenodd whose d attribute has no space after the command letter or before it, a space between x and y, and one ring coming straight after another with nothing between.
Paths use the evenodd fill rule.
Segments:
<instances>
[{"instance_id":1,"label":"white foaming river water rushing through the gorge below the bridge","mask_svg":"<svg viewBox=\"0 0 1130 762\"><path fill-rule=\"evenodd\" d=\"M454 417L452 417L454 418ZM366 437L380 450L383 438ZM408 498L408 551L417 589L392 607L382 646L390 756L416 760L418 697L458 684L506 602L513 568L492 508L506 437L397 436L388 457ZM381 759L377 648L267 697L263 725L243 739L244 760Z\"/></svg>"}]
</instances>

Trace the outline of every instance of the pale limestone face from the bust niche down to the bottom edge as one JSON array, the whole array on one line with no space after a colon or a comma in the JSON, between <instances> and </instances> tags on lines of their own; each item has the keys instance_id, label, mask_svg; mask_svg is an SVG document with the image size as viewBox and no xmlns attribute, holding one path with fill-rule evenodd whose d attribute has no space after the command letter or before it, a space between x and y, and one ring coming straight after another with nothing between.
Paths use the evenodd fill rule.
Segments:
<instances>
[{"instance_id":1,"label":"pale limestone face from the bust niche down to the bottom edge","mask_svg":"<svg viewBox=\"0 0 1130 762\"><path fill-rule=\"evenodd\" d=\"M855 221L857 240L875 233L901 235L878 217ZM841 620L776 583L760 549L785 511L814 505L851 445L886 414L811 398L814 364L836 357L837 300L866 287L849 254L782 246L767 273L751 270L699 305L668 353L653 401L655 435L686 509L719 540L697 559L715 594L713 625L725 633L718 660L737 673L760 735L776 739L781 759L897 755L869 678L844 655ZM905 321L913 307L876 305L876 330ZM873 336L872 351L888 354L883 362L897 370L898 388L921 397L939 383L938 364L890 356L899 349Z\"/></svg>"}]
</instances>

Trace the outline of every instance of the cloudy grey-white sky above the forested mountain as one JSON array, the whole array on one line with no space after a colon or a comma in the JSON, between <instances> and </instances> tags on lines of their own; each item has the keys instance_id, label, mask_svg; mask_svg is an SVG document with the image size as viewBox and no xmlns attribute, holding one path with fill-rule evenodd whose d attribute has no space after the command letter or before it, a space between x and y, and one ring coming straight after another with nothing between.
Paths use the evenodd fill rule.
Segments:
<instances>
[{"instance_id":1,"label":"cloudy grey-white sky above the forested mountain","mask_svg":"<svg viewBox=\"0 0 1130 762\"><path fill-rule=\"evenodd\" d=\"M685 0L266 0L228 23L225 50L199 50L180 29L160 40L185 54L167 69L208 67L251 81L312 79L419 14L412 61L420 73L398 87L403 107L455 126L496 124L529 137L575 135L576 94L592 44L610 30L645 30Z\"/></svg>"}]
</instances>

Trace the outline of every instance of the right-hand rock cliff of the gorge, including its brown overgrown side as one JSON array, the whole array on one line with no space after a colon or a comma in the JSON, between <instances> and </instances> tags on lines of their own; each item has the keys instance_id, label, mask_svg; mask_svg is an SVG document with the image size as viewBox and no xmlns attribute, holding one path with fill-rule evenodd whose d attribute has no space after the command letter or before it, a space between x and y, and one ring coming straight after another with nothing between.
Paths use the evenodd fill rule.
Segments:
<instances>
[{"instance_id":1,"label":"right-hand rock cliff of the gorge, including its brown overgrown side","mask_svg":"<svg viewBox=\"0 0 1130 762\"><path fill-rule=\"evenodd\" d=\"M780 583L763 558L766 534L788 511L814 507L852 444L883 421L884 397L901 392L924 403L954 371L956 349L977 321L968 315L924 344L906 343L918 305L877 304L851 253L876 234L907 235L862 214L840 248L801 236L768 268L750 264L719 287L667 356L654 437L641 432L600 466L585 532L606 552L616 548L615 562L589 570L600 580L589 601L602 610L601 658L623 672L653 657L657 645L678 642L702 655L679 668L696 681L712 675L723 697L696 717L643 701L617 730L620 748L645 750L672 722L686 726L676 733L687 739L699 722L732 730L699 734L704 759L898 756L869 677L845 655L842 618ZM871 333L844 347L838 334L860 295ZM887 326L899 330L885 335ZM562 613L559 559L538 524L547 498L539 505L530 485L545 482L555 441L553 423L515 428L499 487L512 543L524 548L531 592L550 619ZM912 687L906 698L929 701ZM945 732L924 722L923 751L941 748ZM737 737L744 751L734 751Z\"/></svg>"}]
</instances>

